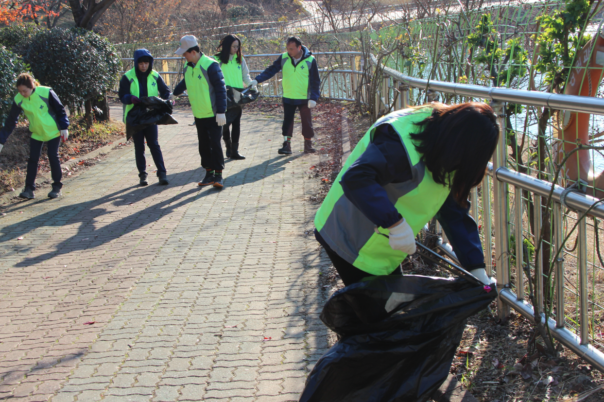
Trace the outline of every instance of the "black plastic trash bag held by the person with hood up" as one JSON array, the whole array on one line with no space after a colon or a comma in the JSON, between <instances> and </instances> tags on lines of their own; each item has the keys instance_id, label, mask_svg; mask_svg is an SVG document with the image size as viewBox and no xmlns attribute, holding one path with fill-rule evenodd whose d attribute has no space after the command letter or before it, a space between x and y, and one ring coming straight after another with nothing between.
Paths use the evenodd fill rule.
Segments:
<instances>
[{"instance_id":1,"label":"black plastic trash bag held by the person with hood up","mask_svg":"<svg viewBox=\"0 0 604 402\"><path fill-rule=\"evenodd\" d=\"M156 96L143 96L126 117L126 139L150 125L178 124L172 117L172 103Z\"/></svg>"}]
</instances>

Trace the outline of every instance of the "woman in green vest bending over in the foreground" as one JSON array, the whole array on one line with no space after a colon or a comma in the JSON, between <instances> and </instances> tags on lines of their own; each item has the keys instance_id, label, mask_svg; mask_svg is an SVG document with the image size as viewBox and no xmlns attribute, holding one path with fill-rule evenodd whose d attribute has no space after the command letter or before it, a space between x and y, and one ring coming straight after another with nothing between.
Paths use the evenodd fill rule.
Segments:
<instances>
[{"instance_id":1,"label":"woman in green vest bending over in the foreground","mask_svg":"<svg viewBox=\"0 0 604 402\"><path fill-rule=\"evenodd\" d=\"M400 273L434 216L463 267L490 283L468 195L499 137L490 106L432 103L379 118L315 216L315 236L345 285Z\"/></svg>"}]
</instances>

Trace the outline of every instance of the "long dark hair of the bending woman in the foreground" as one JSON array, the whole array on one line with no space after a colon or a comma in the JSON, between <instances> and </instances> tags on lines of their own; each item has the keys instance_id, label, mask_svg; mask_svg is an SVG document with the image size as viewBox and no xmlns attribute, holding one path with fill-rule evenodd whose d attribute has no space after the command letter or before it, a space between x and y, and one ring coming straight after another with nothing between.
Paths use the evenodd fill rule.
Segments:
<instances>
[{"instance_id":1,"label":"long dark hair of the bending woman in the foreground","mask_svg":"<svg viewBox=\"0 0 604 402\"><path fill-rule=\"evenodd\" d=\"M411 134L417 152L436 183L449 186L458 204L467 206L472 187L483 180L499 138L499 126L489 105L467 102L432 104L430 117L416 123L423 130ZM455 172L451 180L449 173Z\"/></svg>"}]
</instances>

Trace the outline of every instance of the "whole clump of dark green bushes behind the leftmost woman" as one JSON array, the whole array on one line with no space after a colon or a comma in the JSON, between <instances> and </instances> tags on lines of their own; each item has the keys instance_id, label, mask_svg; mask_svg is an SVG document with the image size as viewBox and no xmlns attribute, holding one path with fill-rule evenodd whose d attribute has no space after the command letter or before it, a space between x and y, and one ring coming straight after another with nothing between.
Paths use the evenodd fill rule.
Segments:
<instances>
[{"instance_id":1,"label":"whole clump of dark green bushes behind the leftmost woman","mask_svg":"<svg viewBox=\"0 0 604 402\"><path fill-rule=\"evenodd\" d=\"M91 105L119 79L120 58L109 41L82 28L48 30L33 24L0 28L0 122L4 122L16 89L16 76L30 70L57 92L71 112Z\"/></svg>"}]
</instances>

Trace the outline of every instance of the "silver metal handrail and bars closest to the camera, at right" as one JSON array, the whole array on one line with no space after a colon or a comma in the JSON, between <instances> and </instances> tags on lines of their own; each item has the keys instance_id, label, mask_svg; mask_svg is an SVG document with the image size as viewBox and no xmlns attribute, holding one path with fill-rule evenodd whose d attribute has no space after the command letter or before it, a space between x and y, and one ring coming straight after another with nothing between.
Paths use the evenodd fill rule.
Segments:
<instances>
[{"instance_id":1,"label":"silver metal handrail and bars closest to the camera, at right","mask_svg":"<svg viewBox=\"0 0 604 402\"><path fill-rule=\"evenodd\" d=\"M373 66L377 66L376 57L371 54L370 62ZM510 306L514 310L518 311L522 316L534 322L535 307L526 302L524 294L524 278L522 276L522 264L524 261L522 241L522 208L516 205L515 216L509 216L508 214L508 185L515 187L513 191L515 199L522 198L522 190L527 190L534 196L535 205L541 205L542 197L550 195L552 183L538 178L526 175L524 173L515 172L507 169L507 144L506 144L506 115L504 113L505 102L519 103L522 105L532 106L545 106L553 109L563 109L575 112L584 112L590 114L604 115L604 99L595 97L585 96L573 96L564 94L549 94L537 91L525 91L522 89L509 89L509 88L495 88L485 87L480 85L461 84L442 82L435 80L419 79L415 77L405 76L405 74L399 71L393 70L387 66L380 66L381 73L384 74L384 85L377 85L376 101L382 102L386 108L390 109L388 105L390 97L388 94L388 88L396 88L396 85L390 85L390 80L399 82L400 96L399 105L393 105L394 110L399 108L406 108L409 106L409 88L425 89L428 100L433 99L434 92L445 92L447 94L466 96L466 97L477 97L481 99L488 99L491 101L493 110L495 111L498 123L500 125L500 140L493 154L493 163L489 164L487 168L487 175L483 180L483 222L484 226L487 227L489 235L484 232L485 242L485 262L487 267L492 263L491 253L492 245L490 239L490 227L491 219L490 213L493 212L494 224L493 229L495 232L495 256L496 256L496 277L498 280L498 290L500 291L500 297L498 299L498 315L501 319L505 318L509 314ZM382 88L383 87L383 88ZM384 92L384 93L382 93ZM377 108L376 108L377 109ZM490 177L493 178L493 209L491 209L490 203ZM551 216L554 221L554 233L553 233L553 245L561 247L564 242L564 236L562 233L562 217L563 210L560 204L561 194L564 188L561 186L554 186L551 200ZM476 219L478 217L477 209L477 190L472 190L472 215ZM589 195L570 192L565 198L565 204L576 210L578 214L585 213L590 209L594 203L599 201ZM541 208L535 208L535 232L541 232L542 225L542 213ZM604 219L604 205L599 204L590 210L590 215L597 218ZM580 215L577 215L577 219ZM509 224L515 224L515 236L516 236L516 250L510 250L510 233ZM554 272L555 272L555 294L556 294L556 317L555 320L550 317L545 317L544 314L544 283L543 280L536 280L535 282L535 298L538 303L537 310L541 314L542 323L545 323L550 328L552 336L567 346L579 357L588 361L591 365L595 366L600 371L604 372L604 353L599 349L594 348L590 344L589 340L589 317L588 317L588 271L587 271L587 241L586 241L586 222L585 218L577 222L578 234L577 234L577 267L579 270L579 286L578 286L578 297L579 297L579 316L580 326L579 334L574 334L568 328L565 315L564 315L564 255L554 261ZM538 235L535 235L537 237ZM510 262L509 255L510 251L516 254L516 286L515 291L512 290L512 284L510 280ZM542 254L535 256L535 267L536 277L544 278L542 271Z\"/></svg>"}]
</instances>

